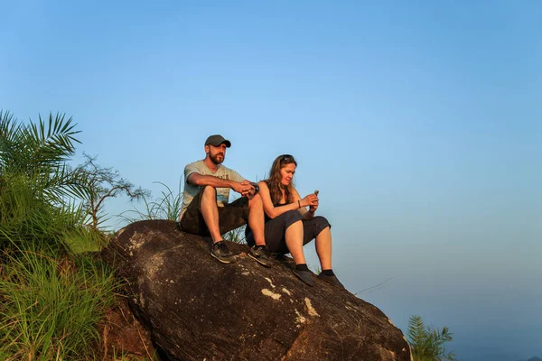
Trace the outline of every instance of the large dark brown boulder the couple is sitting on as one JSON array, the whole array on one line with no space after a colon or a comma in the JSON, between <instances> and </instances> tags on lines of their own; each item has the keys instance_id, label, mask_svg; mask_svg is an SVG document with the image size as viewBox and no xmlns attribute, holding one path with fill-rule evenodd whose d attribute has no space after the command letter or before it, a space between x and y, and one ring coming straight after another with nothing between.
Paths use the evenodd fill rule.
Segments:
<instances>
[{"instance_id":1,"label":"large dark brown boulder the couple is sitting on","mask_svg":"<svg viewBox=\"0 0 542 361\"><path fill-rule=\"evenodd\" d=\"M265 268L246 245L220 264L200 236L173 221L141 221L118 232L105 258L125 279L135 315L154 344L179 360L410 360L384 313L291 264Z\"/></svg>"}]
</instances>

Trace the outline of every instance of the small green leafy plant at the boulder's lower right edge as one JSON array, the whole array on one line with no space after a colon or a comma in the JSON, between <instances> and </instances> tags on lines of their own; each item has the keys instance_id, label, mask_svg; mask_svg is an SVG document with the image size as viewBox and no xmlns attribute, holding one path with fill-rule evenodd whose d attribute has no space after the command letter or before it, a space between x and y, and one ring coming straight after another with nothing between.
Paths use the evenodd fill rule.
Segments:
<instances>
[{"instance_id":1,"label":"small green leafy plant at the boulder's lower right edge","mask_svg":"<svg viewBox=\"0 0 542 361\"><path fill-rule=\"evenodd\" d=\"M408 320L406 337L414 361L455 361L453 351L446 354L446 342L452 341L452 333L447 327L433 329L425 326L421 316L414 315Z\"/></svg>"}]
</instances>

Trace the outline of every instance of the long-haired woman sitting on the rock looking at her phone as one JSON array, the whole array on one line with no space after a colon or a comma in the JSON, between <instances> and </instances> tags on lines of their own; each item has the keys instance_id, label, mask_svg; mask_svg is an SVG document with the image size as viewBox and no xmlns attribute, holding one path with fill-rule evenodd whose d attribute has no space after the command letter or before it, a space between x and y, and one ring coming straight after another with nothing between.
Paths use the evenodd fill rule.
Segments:
<instances>
[{"instance_id":1,"label":"long-haired woman sitting on the rock looking at her phone","mask_svg":"<svg viewBox=\"0 0 542 361\"><path fill-rule=\"evenodd\" d=\"M294 274L309 286L313 286L313 273L305 262L303 246L316 238L316 253L322 266L318 277L344 288L332 271L330 223L322 216L314 216L318 208L316 194L309 194L302 199L295 190L292 180L296 167L297 162L292 155L280 155L271 166L269 178L258 183L266 214L267 249L275 254L292 255L295 262ZM249 233L250 230L247 237L250 245Z\"/></svg>"}]
</instances>

